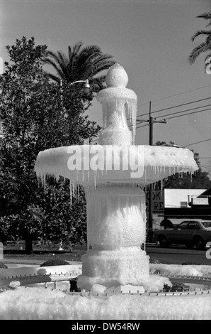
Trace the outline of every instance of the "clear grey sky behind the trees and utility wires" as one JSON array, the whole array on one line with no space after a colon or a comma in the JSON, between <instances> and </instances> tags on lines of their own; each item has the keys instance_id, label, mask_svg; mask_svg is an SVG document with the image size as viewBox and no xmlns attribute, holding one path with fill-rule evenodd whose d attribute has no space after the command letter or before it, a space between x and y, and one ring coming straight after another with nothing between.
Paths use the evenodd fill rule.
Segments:
<instances>
[{"instance_id":1,"label":"clear grey sky behind the trees and utility wires","mask_svg":"<svg viewBox=\"0 0 211 334\"><path fill-rule=\"evenodd\" d=\"M152 101L152 116L166 119L166 124L154 123L154 143L187 146L211 168L211 75L204 70L205 55L188 63L191 50L203 41L193 43L191 36L207 29L196 16L207 11L211 0L0 0L0 56L8 60L5 46L23 36L65 53L78 41L99 45L125 68L127 87L138 97L139 118L147 119ZM156 112L160 109L166 110ZM102 125L96 100L89 114ZM135 144L149 144L149 126L141 125Z\"/></svg>"}]
</instances>

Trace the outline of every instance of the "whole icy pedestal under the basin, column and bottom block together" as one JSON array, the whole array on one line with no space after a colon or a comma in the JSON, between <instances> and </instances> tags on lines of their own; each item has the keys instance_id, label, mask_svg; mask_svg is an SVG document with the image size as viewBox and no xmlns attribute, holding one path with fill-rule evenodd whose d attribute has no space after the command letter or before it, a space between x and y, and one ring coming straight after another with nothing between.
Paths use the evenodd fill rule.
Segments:
<instances>
[{"instance_id":1,"label":"whole icy pedestal under the basin, column and bottom block together","mask_svg":"<svg viewBox=\"0 0 211 334\"><path fill-rule=\"evenodd\" d=\"M82 257L79 286L138 286L149 276L149 257L140 248L146 235L144 191L100 185L87 193L86 201L89 250Z\"/></svg>"}]
</instances>

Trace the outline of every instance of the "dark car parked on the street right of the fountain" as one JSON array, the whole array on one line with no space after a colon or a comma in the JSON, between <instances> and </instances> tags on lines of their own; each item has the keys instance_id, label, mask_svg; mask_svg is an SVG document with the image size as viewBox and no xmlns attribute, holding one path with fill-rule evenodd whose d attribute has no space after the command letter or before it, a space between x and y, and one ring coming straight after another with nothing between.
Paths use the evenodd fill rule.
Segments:
<instances>
[{"instance_id":1,"label":"dark car parked on the street right of the fountain","mask_svg":"<svg viewBox=\"0 0 211 334\"><path fill-rule=\"evenodd\" d=\"M184 244L190 249L205 249L207 242L211 242L211 220L187 219L177 226L156 230L155 236L161 247Z\"/></svg>"}]
</instances>

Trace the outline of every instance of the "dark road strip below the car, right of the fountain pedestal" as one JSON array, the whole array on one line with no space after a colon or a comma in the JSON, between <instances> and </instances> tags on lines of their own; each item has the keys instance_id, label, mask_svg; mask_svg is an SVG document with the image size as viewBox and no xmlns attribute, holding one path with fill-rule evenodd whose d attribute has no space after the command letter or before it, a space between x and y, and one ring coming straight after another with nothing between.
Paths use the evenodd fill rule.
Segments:
<instances>
[{"instance_id":1,"label":"dark road strip below the car, right of the fountain pedestal","mask_svg":"<svg viewBox=\"0 0 211 334\"><path fill-rule=\"evenodd\" d=\"M147 245L147 255L162 264L207 264L211 266L211 259L207 259L206 251L186 249L186 247L161 248L159 245ZM210 252L211 254L211 252Z\"/></svg>"}]
</instances>

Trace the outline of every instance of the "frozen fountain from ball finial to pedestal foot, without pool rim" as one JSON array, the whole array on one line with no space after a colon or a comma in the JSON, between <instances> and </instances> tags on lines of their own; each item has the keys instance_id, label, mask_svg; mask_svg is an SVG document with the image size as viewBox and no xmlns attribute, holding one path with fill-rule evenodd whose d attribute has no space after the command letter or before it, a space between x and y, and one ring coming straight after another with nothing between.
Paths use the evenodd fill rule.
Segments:
<instances>
[{"instance_id":1,"label":"frozen fountain from ball finial to pedestal foot, without pool rim","mask_svg":"<svg viewBox=\"0 0 211 334\"><path fill-rule=\"evenodd\" d=\"M134 145L137 95L126 88L127 73L115 64L107 88L96 99L103 106L98 145L68 146L39 153L35 171L45 184L47 174L69 178L72 194L83 185L87 203L88 250L82 257L81 289L152 289L149 257L141 249L146 238L144 186L173 173L193 173L198 166L188 149ZM127 126L130 115L132 131ZM146 286L147 281L147 286ZM156 279L157 281L157 279ZM131 287L130 287L131 289ZM154 291L154 290L153 290Z\"/></svg>"}]
</instances>

